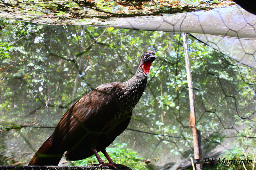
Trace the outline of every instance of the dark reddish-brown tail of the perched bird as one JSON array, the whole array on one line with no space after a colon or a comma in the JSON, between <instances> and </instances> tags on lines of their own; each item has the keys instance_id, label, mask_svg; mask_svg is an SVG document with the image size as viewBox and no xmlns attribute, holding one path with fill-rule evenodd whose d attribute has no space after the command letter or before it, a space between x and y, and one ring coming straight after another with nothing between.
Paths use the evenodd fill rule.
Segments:
<instances>
[{"instance_id":1,"label":"dark reddish-brown tail of the perched bird","mask_svg":"<svg viewBox=\"0 0 256 170\"><path fill-rule=\"evenodd\" d=\"M63 153L52 147L51 136L42 144L28 165L58 165Z\"/></svg>"}]
</instances>

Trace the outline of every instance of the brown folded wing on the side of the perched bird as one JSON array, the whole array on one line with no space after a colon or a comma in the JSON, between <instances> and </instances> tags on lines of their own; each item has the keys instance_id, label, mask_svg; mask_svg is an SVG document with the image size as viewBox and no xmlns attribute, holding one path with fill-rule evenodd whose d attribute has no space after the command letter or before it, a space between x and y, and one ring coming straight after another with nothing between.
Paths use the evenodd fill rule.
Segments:
<instances>
[{"instance_id":1,"label":"brown folded wing on the side of the perched bird","mask_svg":"<svg viewBox=\"0 0 256 170\"><path fill-rule=\"evenodd\" d=\"M70 107L52 134L52 145L65 152L81 142L89 144L97 140L105 124L119 109L115 97L119 84L100 85Z\"/></svg>"}]
</instances>

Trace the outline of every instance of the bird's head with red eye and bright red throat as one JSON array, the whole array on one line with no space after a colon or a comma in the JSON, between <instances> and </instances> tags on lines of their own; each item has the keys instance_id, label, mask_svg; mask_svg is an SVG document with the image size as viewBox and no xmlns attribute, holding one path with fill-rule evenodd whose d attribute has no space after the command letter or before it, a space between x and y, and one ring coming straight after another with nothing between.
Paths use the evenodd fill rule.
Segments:
<instances>
[{"instance_id":1,"label":"bird's head with red eye and bright red throat","mask_svg":"<svg viewBox=\"0 0 256 170\"><path fill-rule=\"evenodd\" d=\"M139 64L139 69L142 69L144 73L148 74L151 63L157 59L157 56L155 53L151 50L145 51L145 53L142 54Z\"/></svg>"}]
</instances>

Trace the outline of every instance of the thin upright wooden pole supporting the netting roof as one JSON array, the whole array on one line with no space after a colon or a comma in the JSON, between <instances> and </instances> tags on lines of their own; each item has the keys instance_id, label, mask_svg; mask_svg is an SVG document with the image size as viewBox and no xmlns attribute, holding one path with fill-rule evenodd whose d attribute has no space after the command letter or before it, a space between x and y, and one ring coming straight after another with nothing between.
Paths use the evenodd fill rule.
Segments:
<instances>
[{"instance_id":1,"label":"thin upright wooden pole supporting the netting roof","mask_svg":"<svg viewBox=\"0 0 256 170\"><path fill-rule=\"evenodd\" d=\"M196 159L196 170L202 170L202 164L200 163L200 144L198 137L198 131L196 130L196 115L194 108L194 93L193 93L193 85L192 85L192 76L190 70L189 56L188 56L188 43L186 33L182 33L183 37L183 46L185 52L185 62L186 62L186 70L187 70L187 80L188 80L188 95L189 95L189 105L190 105L190 119L189 119L189 127L192 128L193 133L193 142L194 142L194 154ZM200 135L200 133L199 133Z\"/></svg>"}]
</instances>

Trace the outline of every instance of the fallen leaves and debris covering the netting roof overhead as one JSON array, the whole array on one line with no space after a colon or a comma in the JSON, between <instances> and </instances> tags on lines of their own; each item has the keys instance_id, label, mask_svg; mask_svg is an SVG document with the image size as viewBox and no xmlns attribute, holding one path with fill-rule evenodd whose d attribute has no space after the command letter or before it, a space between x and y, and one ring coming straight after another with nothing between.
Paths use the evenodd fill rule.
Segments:
<instances>
[{"instance_id":1,"label":"fallen leaves and debris covering the netting roof overhead","mask_svg":"<svg viewBox=\"0 0 256 170\"><path fill-rule=\"evenodd\" d=\"M41 24L99 25L108 18L179 13L235 4L225 0L2 0L0 16Z\"/></svg>"}]
</instances>

